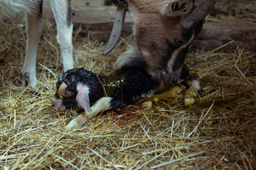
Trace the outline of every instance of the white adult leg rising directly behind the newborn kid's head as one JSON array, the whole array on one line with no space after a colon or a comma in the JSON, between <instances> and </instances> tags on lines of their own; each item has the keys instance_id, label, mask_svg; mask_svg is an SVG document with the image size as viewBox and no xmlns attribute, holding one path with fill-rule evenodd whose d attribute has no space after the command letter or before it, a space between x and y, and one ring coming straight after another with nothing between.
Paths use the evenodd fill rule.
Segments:
<instances>
[{"instance_id":1,"label":"white adult leg rising directly behind the newborn kid's head","mask_svg":"<svg viewBox=\"0 0 256 170\"><path fill-rule=\"evenodd\" d=\"M51 7L57 25L57 41L61 48L63 67L64 71L67 71L74 67L71 2L70 0L52 0Z\"/></svg>"}]
</instances>

